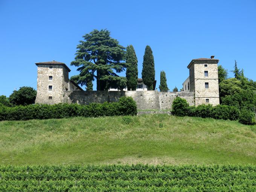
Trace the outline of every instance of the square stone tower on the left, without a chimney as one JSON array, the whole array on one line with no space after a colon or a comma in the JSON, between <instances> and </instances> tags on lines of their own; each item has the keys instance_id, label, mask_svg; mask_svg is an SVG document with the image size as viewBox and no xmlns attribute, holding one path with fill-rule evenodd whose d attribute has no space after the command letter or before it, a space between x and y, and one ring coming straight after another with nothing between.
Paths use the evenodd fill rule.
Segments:
<instances>
[{"instance_id":1,"label":"square stone tower on the left, without a chimney","mask_svg":"<svg viewBox=\"0 0 256 192\"><path fill-rule=\"evenodd\" d=\"M36 103L61 103L63 91L69 90L69 67L62 62L38 62Z\"/></svg>"}]
</instances>

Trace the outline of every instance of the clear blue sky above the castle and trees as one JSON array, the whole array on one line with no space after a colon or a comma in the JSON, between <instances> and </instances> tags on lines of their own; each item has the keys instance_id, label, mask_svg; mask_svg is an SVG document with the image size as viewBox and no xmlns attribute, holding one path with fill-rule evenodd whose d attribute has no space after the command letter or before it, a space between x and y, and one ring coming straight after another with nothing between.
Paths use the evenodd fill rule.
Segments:
<instances>
[{"instance_id":1,"label":"clear blue sky above the castle and trees","mask_svg":"<svg viewBox=\"0 0 256 192\"><path fill-rule=\"evenodd\" d=\"M108 29L122 46L134 46L139 78L145 47L151 46L157 88L161 70L168 87L180 89L189 62L211 55L228 70L236 59L256 81L255 0L0 0L0 95L36 88L35 62L70 67L78 41L93 29ZM78 74L70 69L70 76Z\"/></svg>"}]
</instances>

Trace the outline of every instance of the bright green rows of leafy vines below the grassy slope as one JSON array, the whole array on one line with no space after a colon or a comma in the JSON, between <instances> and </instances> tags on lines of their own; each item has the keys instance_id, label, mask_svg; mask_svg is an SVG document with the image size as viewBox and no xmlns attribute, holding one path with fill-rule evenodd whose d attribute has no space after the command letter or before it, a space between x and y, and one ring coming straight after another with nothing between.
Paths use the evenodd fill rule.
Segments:
<instances>
[{"instance_id":1,"label":"bright green rows of leafy vines below the grassy slope","mask_svg":"<svg viewBox=\"0 0 256 192\"><path fill-rule=\"evenodd\" d=\"M0 166L0 191L255 191L256 166Z\"/></svg>"}]
</instances>

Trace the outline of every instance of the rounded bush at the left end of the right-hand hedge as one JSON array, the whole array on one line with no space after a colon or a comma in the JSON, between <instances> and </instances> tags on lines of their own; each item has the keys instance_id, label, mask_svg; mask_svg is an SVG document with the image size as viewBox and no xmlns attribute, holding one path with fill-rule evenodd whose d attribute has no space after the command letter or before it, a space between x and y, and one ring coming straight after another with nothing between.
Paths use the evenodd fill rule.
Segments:
<instances>
[{"instance_id":1,"label":"rounded bush at the left end of the right-hand hedge","mask_svg":"<svg viewBox=\"0 0 256 192\"><path fill-rule=\"evenodd\" d=\"M176 116L186 116L189 111L189 103L186 99L177 97L172 103L172 114Z\"/></svg>"}]
</instances>

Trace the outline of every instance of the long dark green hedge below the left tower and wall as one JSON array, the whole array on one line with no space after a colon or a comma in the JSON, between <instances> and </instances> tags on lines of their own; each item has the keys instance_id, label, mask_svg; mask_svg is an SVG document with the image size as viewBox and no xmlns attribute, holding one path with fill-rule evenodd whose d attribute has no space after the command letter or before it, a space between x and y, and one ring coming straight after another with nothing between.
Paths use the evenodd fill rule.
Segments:
<instances>
[{"instance_id":1,"label":"long dark green hedge below the left tower and wall","mask_svg":"<svg viewBox=\"0 0 256 192\"><path fill-rule=\"evenodd\" d=\"M0 106L0 120L58 119L67 117L99 117L136 115L137 105L131 97L122 97L119 102L89 105L35 104L17 107Z\"/></svg>"}]
</instances>

